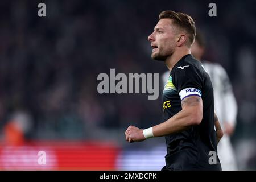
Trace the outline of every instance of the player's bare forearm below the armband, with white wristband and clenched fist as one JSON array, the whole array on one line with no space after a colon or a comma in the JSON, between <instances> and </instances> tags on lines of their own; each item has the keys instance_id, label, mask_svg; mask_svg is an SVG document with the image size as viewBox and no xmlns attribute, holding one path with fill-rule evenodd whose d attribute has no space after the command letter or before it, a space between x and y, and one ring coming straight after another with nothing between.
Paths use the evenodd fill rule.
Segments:
<instances>
[{"instance_id":1,"label":"player's bare forearm below the armband, with white wristband and clenched fist","mask_svg":"<svg viewBox=\"0 0 256 182\"><path fill-rule=\"evenodd\" d=\"M193 125L199 125L201 123L203 118L203 101L201 97L185 97L181 101L181 106L182 110L179 113L150 129L142 130L134 126L129 126L125 132L126 140L129 142L139 142L153 136L162 137L164 135L179 133L189 129ZM146 135L146 138L144 135Z\"/></svg>"}]
</instances>

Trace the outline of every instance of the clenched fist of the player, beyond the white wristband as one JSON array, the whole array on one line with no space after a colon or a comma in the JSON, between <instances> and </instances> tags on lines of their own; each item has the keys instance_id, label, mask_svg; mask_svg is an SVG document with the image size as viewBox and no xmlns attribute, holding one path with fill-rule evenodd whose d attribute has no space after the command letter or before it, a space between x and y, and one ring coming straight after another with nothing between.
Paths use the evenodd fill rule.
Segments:
<instances>
[{"instance_id":1,"label":"clenched fist of the player, beyond the white wristband","mask_svg":"<svg viewBox=\"0 0 256 182\"><path fill-rule=\"evenodd\" d=\"M127 142L142 142L146 138L143 135L143 130L135 126L129 126L125 131L125 139Z\"/></svg>"}]
</instances>

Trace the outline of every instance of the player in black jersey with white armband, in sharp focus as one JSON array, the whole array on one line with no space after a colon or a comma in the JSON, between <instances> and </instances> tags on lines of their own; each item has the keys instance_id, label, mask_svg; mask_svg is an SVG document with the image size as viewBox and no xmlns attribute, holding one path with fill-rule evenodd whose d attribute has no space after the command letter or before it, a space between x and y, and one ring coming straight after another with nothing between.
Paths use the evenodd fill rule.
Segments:
<instances>
[{"instance_id":1,"label":"player in black jersey with white armband, in sharp focus","mask_svg":"<svg viewBox=\"0 0 256 182\"><path fill-rule=\"evenodd\" d=\"M195 35L195 22L187 14L160 13L148 41L152 59L164 61L170 70L163 90L163 122L144 130L129 126L125 131L128 142L165 136L163 170L221 170L217 143L223 133L214 113L212 82L191 55Z\"/></svg>"}]
</instances>

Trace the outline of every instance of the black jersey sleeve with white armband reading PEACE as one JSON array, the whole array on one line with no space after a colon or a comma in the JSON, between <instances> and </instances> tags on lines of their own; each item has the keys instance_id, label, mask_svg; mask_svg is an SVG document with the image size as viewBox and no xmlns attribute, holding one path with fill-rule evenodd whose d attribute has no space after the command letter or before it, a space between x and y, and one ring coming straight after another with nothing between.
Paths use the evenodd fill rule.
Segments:
<instances>
[{"instance_id":1,"label":"black jersey sleeve with white armband reading PEACE","mask_svg":"<svg viewBox=\"0 0 256 182\"><path fill-rule=\"evenodd\" d=\"M173 78L181 101L189 96L202 97L203 75L195 66L176 67Z\"/></svg>"}]
</instances>

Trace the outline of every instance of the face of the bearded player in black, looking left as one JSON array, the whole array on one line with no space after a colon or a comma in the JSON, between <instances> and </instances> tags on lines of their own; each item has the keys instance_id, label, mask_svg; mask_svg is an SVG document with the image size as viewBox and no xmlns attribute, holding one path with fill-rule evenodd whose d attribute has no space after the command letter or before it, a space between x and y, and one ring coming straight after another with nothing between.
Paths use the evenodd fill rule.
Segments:
<instances>
[{"instance_id":1,"label":"face of the bearded player in black, looking left","mask_svg":"<svg viewBox=\"0 0 256 182\"><path fill-rule=\"evenodd\" d=\"M175 51L177 32L176 27L172 25L171 19L160 19L156 24L154 32L148 36L152 46L151 57L154 60L164 61Z\"/></svg>"}]
</instances>

